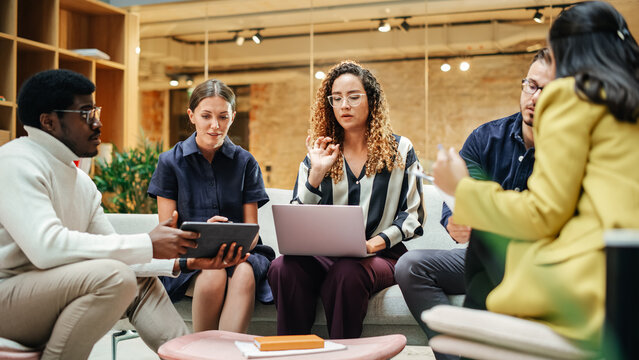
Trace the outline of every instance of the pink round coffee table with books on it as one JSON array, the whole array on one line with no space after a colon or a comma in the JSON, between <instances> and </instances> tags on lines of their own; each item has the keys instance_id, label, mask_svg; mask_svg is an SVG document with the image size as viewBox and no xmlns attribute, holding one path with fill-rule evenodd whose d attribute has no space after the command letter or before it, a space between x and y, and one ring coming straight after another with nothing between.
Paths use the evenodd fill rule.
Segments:
<instances>
[{"instance_id":1,"label":"pink round coffee table with books on it","mask_svg":"<svg viewBox=\"0 0 639 360\"><path fill-rule=\"evenodd\" d=\"M221 330L203 331L166 342L158 350L165 360L242 360L235 341L252 342L255 335ZM359 339L330 340L346 345L345 350L296 356L260 358L262 360L386 360L406 346L404 335L385 335Z\"/></svg>"}]
</instances>

